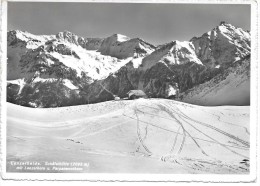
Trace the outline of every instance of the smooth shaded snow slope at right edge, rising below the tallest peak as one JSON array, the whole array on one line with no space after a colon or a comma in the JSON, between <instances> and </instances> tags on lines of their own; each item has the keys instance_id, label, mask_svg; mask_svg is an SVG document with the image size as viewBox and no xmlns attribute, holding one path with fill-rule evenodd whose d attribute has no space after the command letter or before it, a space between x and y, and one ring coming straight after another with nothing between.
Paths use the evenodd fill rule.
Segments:
<instances>
[{"instance_id":1,"label":"smooth shaded snow slope at right edge, rising below the tallest peak","mask_svg":"<svg viewBox=\"0 0 260 186\"><path fill-rule=\"evenodd\" d=\"M250 57L179 95L179 100L197 105L250 105Z\"/></svg>"}]
</instances>

